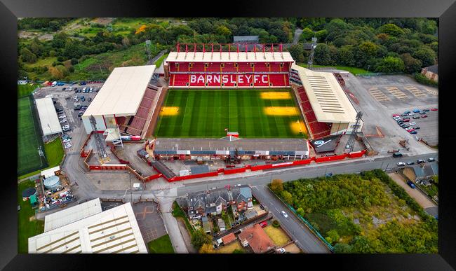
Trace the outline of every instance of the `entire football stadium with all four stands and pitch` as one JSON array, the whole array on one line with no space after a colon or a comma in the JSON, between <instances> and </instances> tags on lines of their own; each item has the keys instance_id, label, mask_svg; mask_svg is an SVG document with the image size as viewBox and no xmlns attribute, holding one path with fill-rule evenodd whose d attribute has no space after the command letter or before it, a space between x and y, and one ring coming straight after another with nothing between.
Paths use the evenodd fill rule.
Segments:
<instances>
[{"instance_id":1,"label":"entire football stadium with all four stands and pitch","mask_svg":"<svg viewBox=\"0 0 456 271\"><path fill-rule=\"evenodd\" d=\"M304 159L307 140L353 131L357 112L334 74L298 66L280 44L245 48L177 44L160 86L151 83L154 65L115 68L82 116L86 132L114 146L127 137L155 140L160 160Z\"/></svg>"}]
</instances>

